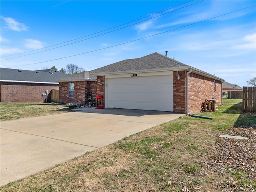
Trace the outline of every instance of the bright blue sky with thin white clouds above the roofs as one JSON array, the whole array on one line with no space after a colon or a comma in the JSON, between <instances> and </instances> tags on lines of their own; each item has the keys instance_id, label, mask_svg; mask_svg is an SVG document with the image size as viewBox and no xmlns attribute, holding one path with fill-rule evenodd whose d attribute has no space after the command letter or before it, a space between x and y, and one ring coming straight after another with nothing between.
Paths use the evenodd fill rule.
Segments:
<instances>
[{"instance_id":1,"label":"bright blue sky with thin white clouds above the roofs","mask_svg":"<svg viewBox=\"0 0 256 192\"><path fill-rule=\"evenodd\" d=\"M167 50L170 58L247 86L256 77L255 4L1 0L1 67L71 63L93 70Z\"/></svg>"}]
</instances>

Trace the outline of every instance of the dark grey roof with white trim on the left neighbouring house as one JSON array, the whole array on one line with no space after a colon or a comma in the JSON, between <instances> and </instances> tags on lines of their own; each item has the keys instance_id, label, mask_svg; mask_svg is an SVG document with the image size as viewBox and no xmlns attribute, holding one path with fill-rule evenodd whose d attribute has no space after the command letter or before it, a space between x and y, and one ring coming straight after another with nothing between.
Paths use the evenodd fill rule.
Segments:
<instances>
[{"instance_id":1,"label":"dark grey roof with white trim on the left neighbouring house","mask_svg":"<svg viewBox=\"0 0 256 192\"><path fill-rule=\"evenodd\" d=\"M65 73L55 70L18 70L0 68L0 81L3 82L36 82L58 84L58 80L68 76Z\"/></svg>"}]
</instances>

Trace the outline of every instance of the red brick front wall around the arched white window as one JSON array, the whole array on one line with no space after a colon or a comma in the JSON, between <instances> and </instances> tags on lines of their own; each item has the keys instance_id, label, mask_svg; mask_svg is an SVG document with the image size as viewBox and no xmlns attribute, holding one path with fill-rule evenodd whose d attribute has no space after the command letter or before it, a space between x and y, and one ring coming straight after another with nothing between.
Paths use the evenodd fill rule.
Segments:
<instances>
[{"instance_id":1,"label":"red brick front wall around the arched white window","mask_svg":"<svg viewBox=\"0 0 256 192\"><path fill-rule=\"evenodd\" d=\"M68 84L75 84L74 98L68 97ZM86 104L88 102L87 93L92 93L92 100L96 100L96 81L71 81L59 83L59 98L62 103L78 102Z\"/></svg>"}]
</instances>

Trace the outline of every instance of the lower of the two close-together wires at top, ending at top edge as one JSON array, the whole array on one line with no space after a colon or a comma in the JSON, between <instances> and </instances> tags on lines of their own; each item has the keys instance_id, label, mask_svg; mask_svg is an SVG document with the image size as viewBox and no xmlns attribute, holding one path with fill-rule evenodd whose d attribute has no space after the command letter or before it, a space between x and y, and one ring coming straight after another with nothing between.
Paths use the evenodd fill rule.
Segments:
<instances>
[{"instance_id":1,"label":"lower of the two close-together wires at top, ending at top edge","mask_svg":"<svg viewBox=\"0 0 256 192\"><path fill-rule=\"evenodd\" d=\"M184 6L184 7L182 7L182 8L185 8L185 7L188 7L188 6L197 4L197 3L202 2L202 1L204 1L204 0L195 2L195 3L193 3L193 4ZM181 4L180 4L180 5L181 5ZM180 6L180 5L178 5L178 6ZM174 7L173 7L173 8L174 8ZM178 9L176 9L176 10L180 10L180 9L182 9L182 8L178 8ZM170 9L170 8L169 8L169 9ZM39 52L30 53L30 54L26 54L26 55L22 55L22 56L17 56L17 57L12 57L12 58L8 58L8 59L3 59L3 60L1 60L1 61L10 60L10 59L19 58L19 57L24 57L24 56L28 56L28 55L32 55L32 54L36 54L36 53L45 52L45 51L48 51L48 50L53 50L53 49L56 49L56 48L64 47L64 46L67 46L67 45L75 44L75 43L78 43L78 42L82 42L82 41L85 41L85 40L88 40L88 39L92 39L92 38L95 38L95 37L98 37L98 36L102 36L102 35L104 35L104 34L108 34L108 33L111 33L111 32L114 32L114 31L117 31L117 30L120 30L120 29L124 29L124 28L130 27L130 26L133 26L133 25L135 25L135 24L139 24L139 23L142 23L142 22L145 22L145 21L148 21L148 20L151 20L151 19L154 19L154 18L163 16L163 15L165 15L165 14L174 12L174 11L176 11L176 10L172 10L172 11L170 11L170 12L166 12L166 13L164 13L164 14L161 14L161 15L158 15L158 16L155 16L155 17L152 17L152 18L149 18L149 19L146 19L146 20L143 20L143 21L134 23L134 24L130 24L130 25L128 25L128 26L125 26L125 27L122 27L122 28L119 28L119 29L116 29L116 30L112 30L112 31L109 31L109 32L106 32L106 33L103 33L103 34L99 34L99 35L96 35L96 36L93 36L93 37L90 37L90 38L86 38L86 39L83 39L83 40L79 40L79 41L76 41L76 42L72 42L72 43L69 43L69 44L66 44L66 45L62 45L62 46L58 46L58 47L55 47L55 48L51 48L51 49L47 49L47 50L42 50L42 51L39 51ZM163 11L162 11L162 12L163 12ZM159 12L158 12L158 13L159 13ZM145 18L145 17L144 17L144 18ZM138 19L138 20L140 20L140 19ZM129 23L130 23L130 22L129 22ZM128 23L126 23L126 24L128 24ZM122 24L122 25L124 25L124 24ZM120 26L122 26L122 25L120 25ZM117 27L118 27L118 26L117 26ZM113 27L113 28L116 28L116 27ZM110 29L112 29L112 28L110 28ZM108 30L109 30L109 29L108 29ZM104 30L104 31L106 31L106 30ZM101 31L101 32L103 32L103 31ZM100 33L100 32L97 32L97 33ZM97 34L97 33L94 33L94 34ZM91 35L93 35L93 34L90 34L90 35L88 35L88 36L91 36ZM86 36L84 36L84 37L86 37ZM84 37L82 37L82 38L84 38ZM80 38L77 38L77 39L80 39ZM77 39L76 39L76 40L77 40ZM73 40L70 40L70 41L73 41ZM70 41L68 41L68 42L70 42ZM60 44L63 44L63 43L60 43ZM59 45L59 44L57 44L57 45ZM48 46L48 47L51 47L51 46ZM41 48L41 49L44 49L44 48ZM38 50L40 50L40 49L38 49ZM33 51L35 51L35 50L33 50ZM29 51L29 52L31 52L31 51ZM25 52L25 53L26 53L26 52Z\"/></svg>"}]
</instances>

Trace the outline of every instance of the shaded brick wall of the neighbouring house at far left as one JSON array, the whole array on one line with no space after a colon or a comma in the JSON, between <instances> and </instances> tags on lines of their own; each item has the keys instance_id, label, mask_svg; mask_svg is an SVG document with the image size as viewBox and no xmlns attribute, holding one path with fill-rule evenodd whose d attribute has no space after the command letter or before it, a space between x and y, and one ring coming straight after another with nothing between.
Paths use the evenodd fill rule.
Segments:
<instances>
[{"instance_id":1,"label":"shaded brick wall of the neighbouring house at far left","mask_svg":"<svg viewBox=\"0 0 256 192\"><path fill-rule=\"evenodd\" d=\"M58 84L0 82L1 102L44 102L46 90L59 89Z\"/></svg>"}]
</instances>

